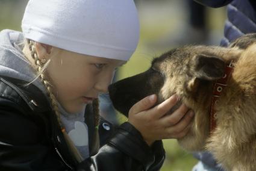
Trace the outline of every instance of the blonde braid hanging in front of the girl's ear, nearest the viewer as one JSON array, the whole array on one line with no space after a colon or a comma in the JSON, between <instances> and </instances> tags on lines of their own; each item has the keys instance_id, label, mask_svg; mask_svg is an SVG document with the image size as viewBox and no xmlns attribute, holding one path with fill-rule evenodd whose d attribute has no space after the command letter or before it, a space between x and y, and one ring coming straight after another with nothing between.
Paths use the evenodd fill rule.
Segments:
<instances>
[{"instance_id":1,"label":"blonde braid hanging in front of the girl's ear, nearest the viewer","mask_svg":"<svg viewBox=\"0 0 256 171\"><path fill-rule=\"evenodd\" d=\"M45 85L46 87L46 90L48 92L48 95L51 101L52 109L54 110L54 113L57 117L57 121L60 125L61 131L63 132L64 138L67 141L67 145L69 146L69 149L74 155L74 157L76 158L76 160L80 163L81 161L83 161L83 157L81 156L80 152L76 149L75 145L73 144L73 141L70 139L69 135L67 135L67 132L64 129L63 124L61 123L60 110L58 109L57 99L55 98L53 93L53 86L46 79L45 69L49 65L51 60L48 60L46 63L43 63L42 61L40 61L37 55L36 47L34 45L33 40L28 40L28 45L30 48L31 56L33 57L34 62L36 64L36 69L37 69L37 72L39 73L39 78L41 79L43 85Z\"/></svg>"}]
</instances>

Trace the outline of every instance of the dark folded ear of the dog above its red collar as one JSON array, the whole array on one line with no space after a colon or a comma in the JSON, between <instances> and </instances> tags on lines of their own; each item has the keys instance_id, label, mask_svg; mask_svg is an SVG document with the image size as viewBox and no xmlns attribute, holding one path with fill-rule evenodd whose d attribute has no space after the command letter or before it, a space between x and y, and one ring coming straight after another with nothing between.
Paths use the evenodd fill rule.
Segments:
<instances>
[{"instance_id":1,"label":"dark folded ear of the dog above its red collar","mask_svg":"<svg viewBox=\"0 0 256 171\"><path fill-rule=\"evenodd\" d=\"M222 58L201 54L196 55L193 62L196 78L211 81L222 78L225 73L226 64Z\"/></svg>"}]
</instances>

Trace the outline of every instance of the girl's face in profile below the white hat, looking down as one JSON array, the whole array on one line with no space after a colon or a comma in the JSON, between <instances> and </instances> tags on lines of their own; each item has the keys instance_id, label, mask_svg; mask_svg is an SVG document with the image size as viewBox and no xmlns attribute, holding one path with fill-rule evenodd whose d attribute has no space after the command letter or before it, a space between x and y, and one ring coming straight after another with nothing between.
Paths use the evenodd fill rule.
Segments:
<instances>
[{"instance_id":1,"label":"girl's face in profile below the white hat, looking down","mask_svg":"<svg viewBox=\"0 0 256 171\"><path fill-rule=\"evenodd\" d=\"M51 57L47 73L54 85L54 95L69 113L81 111L99 93L107 93L114 71L124 61L58 49Z\"/></svg>"}]
</instances>

